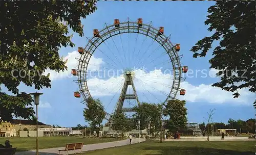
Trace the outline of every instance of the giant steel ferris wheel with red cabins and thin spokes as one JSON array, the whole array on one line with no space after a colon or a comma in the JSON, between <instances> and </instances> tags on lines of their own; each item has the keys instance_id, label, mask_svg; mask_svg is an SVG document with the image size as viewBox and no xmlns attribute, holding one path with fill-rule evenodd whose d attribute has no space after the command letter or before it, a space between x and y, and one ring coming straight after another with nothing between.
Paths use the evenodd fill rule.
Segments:
<instances>
[{"instance_id":1,"label":"giant steel ferris wheel with red cabins and thin spokes","mask_svg":"<svg viewBox=\"0 0 256 155\"><path fill-rule=\"evenodd\" d=\"M134 37L130 38L132 35ZM142 37L140 38L141 40L138 39L139 36ZM154 96L157 98L160 93L162 96L160 95L160 99L157 100L162 104L176 98L177 95L185 95L185 89L180 88L180 83L182 80L185 80L182 74L187 72L188 67L181 65L180 59L182 55L178 54L180 44L173 44L170 41L170 37L164 35L164 27L155 28L152 22L143 23L141 18L136 22L130 21L129 18L123 22L120 22L119 19L114 19L113 24L105 23L102 30L94 29L93 37L87 39L88 43L85 47L78 47L80 54L80 57L77 58L79 62L78 67L72 69L72 74L78 77L76 82L79 86L79 90L74 92L74 96L82 96L82 103L85 103L90 97L95 98L102 94L109 96L109 99L111 99L110 104L105 106L109 107L112 102L115 103L110 106L109 110L108 108L105 109L105 118L108 120L110 129L113 123L111 116L114 113L133 112L134 106L139 106L143 101L153 102L152 98ZM119 39L119 41L116 39ZM144 45L146 39L150 39L148 46ZM109 42L112 41L113 44L111 46ZM134 47L130 46L130 42L133 42ZM124 43L128 45L124 46ZM140 49L136 49L137 43L141 44ZM157 44L156 48L153 48L154 43ZM100 48L101 46L103 46L103 49ZM141 47L146 48L144 53ZM158 52L160 49L163 53ZM127 53L124 52L125 50ZM148 52L150 52L150 55L147 54ZM158 54L162 55L157 57L156 55ZM158 60L163 60L163 56L166 56L167 60L164 63L159 63ZM119 68L123 70L122 75L116 74L116 77L113 78L89 77L91 73L89 66L94 65L96 57L102 58L104 69ZM153 60L147 61L146 58L149 59L150 57L153 57ZM145 61L144 64L141 63L143 60ZM145 69L136 67L136 65L139 66L140 64L156 66L156 63L164 64L166 68L170 67L169 70L173 74L162 73L159 69L151 69L151 71L147 72ZM132 67L133 65L134 67ZM142 74L139 75L139 72ZM157 74L157 76L150 76L153 73ZM170 83L166 82L167 80ZM146 86L147 84L149 86ZM150 86L150 84L152 85ZM92 88L95 89L96 87L98 88L97 91L92 90ZM114 92L116 93L114 94ZM104 99L103 102L105 102ZM131 100L136 102L136 104L131 105ZM126 101L130 104L130 107L125 107Z\"/></svg>"}]
</instances>

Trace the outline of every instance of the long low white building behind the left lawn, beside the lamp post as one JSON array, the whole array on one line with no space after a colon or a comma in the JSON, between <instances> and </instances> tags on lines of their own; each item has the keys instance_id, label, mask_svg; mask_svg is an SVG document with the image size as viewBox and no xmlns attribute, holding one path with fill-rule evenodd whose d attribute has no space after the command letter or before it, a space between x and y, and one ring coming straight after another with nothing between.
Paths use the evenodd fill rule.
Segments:
<instances>
[{"instance_id":1,"label":"long low white building behind the left lawn, beside the lamp post","mask_svg":"<svg viewBox=\"0 0 256 155\"><path fill-rule=\"evenodd\" d=\"M38 128L38 131L44 131L44 136L67 136L72 132L71 127L59 128Z\"/></svg>"}]
</instances>

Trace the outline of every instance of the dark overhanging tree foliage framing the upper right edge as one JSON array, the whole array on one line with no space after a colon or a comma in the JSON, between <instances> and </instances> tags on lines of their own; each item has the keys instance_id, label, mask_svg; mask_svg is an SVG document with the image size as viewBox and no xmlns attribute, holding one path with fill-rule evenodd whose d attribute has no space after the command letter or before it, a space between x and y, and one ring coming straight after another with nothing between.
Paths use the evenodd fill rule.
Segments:
<instances>
[{"instance_id":1,"label":"dark overhanging tree foliage framing the upper right edge","mask_svg":"<svg viewBox=\"0 0 256 155\"><path fill-rule=\"evenodd\" d=\"M209 63L210 68L219 70L217 76L221 78L212 86L234 92L234 98L240 96L238 90L242 88L255 92L255 2L218 1L208 13L205 24L214 33L190 49L194 52L193 57L205 57L212 42L219 41Z\"/></svg>"}]
</instances>

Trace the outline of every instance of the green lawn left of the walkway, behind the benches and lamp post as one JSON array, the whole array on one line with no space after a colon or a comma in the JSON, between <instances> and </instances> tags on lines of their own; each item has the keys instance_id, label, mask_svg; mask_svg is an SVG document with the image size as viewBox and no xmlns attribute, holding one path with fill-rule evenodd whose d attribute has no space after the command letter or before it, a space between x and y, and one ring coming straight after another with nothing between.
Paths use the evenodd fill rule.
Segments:
<instances>
[{"instance_id":1,"label":"green lawn left of the walkway, behind the benches and lamp post","mask_svg":"<svg viewBox=\"0 0 256 155\"><path fill-rule=\"evenodd\" d=\"M10 140L13 147L17 147L17 151L25 151L36 149L35 137L12 137L0 138L0 144L4 144L6 140ZM95 144L122 140L121 138L83 138L83 137L38 137L39 149L52 147L65 147L67 143Z\"/></svg>"}]
</instances>

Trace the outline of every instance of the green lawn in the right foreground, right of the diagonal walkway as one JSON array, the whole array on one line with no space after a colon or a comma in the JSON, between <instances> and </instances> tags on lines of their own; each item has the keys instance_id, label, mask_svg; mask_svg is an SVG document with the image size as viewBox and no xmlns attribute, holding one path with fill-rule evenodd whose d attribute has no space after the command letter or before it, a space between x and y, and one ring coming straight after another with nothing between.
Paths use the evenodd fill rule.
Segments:
<instances>
[{"instance_id":1,"label":"green lawn in the right foreground, right of the diagonal walkway","mask_svg":"<svg viewBox=\"0 0 256 155\"><path fill-rule=\"evenodd\" d=\"M83 155L254 155L255 141L147 141L132 145L88 151Z\"/></svg>"}]
</instances>

